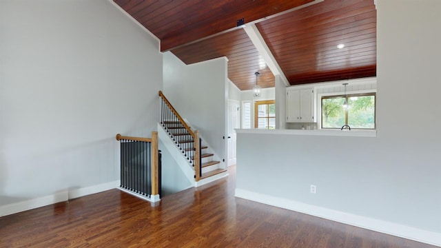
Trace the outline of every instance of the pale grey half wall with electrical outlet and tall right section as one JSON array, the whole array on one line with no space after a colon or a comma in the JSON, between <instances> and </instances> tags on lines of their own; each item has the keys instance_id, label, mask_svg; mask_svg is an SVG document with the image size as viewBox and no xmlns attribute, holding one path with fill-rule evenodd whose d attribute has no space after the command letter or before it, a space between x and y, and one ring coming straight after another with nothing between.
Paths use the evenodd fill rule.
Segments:
<instances>
[{"instance_id":1,"label":"pale grey half wall with electrical outlet and tall right section","mask_svg":"<svg viewBox=\"0 0 441 248\"><path fill-rule=\"evenodd\" d=\"M441 1L377 8L377 137L238 134L237 189L393 223L391 233L441 245Z\"/></svg>"}]
</instances>

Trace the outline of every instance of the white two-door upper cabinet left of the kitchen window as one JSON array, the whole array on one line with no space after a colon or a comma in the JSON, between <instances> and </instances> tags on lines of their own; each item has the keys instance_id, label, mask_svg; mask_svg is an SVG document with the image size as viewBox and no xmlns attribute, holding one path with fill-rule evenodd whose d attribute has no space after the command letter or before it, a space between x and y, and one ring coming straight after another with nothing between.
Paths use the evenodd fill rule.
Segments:
<instances>
[{"instance_id":1,"label":"white two-door upper cabinet left of the kitchen window","mask_svg":"<svg viewBox=\"0 0 441 248\"><path fill-rule=\"evenodd\" d=\"M287 122L313 123L314 118L314 90L287 88Z\"/></svg>"}]
</instances>

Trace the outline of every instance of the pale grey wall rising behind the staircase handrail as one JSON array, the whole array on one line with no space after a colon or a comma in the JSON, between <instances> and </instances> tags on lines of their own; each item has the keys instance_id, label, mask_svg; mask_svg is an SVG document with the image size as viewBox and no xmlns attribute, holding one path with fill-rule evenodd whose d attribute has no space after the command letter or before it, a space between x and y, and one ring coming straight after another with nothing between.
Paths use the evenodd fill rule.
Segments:
<instances>
[{"instance_id":1,"label":"pale grey wall rising behind the staircase handrail","mask_svg":"<svg viewBox=\"0 0 441 248\"><path fill-rule=\"evenodd\" d=\"M171 52L164 53L163 92L179 114L220 156L226 158L227 59L185 65Z\"/></svg>"}]
</instances>

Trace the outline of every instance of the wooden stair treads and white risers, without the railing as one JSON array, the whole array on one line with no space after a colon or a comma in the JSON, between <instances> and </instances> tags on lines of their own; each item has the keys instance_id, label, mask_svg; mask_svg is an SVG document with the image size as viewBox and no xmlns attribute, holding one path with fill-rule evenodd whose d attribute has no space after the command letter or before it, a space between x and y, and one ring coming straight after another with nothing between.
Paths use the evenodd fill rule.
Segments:
<instances>
[{"instance_id":1,"label":"wooden stair treads and white risers, without the railing","mask_svg":"<svg viewBox=\"0 0 441 248\"><path fill-rule=\"evenodd\" d=\"M179 121L163 121L161 125L170 138L172 138L176 147L182 151L183 156L187 158L190 165L194 167L194 155L192 152L195 148L192 135L187 132L184 125ZM201 143L201 179L227 171L227 169L218 168L220 161L214 161L214 154L208 153L207 149L208 146Z\"/></svg>"}]
</instances>

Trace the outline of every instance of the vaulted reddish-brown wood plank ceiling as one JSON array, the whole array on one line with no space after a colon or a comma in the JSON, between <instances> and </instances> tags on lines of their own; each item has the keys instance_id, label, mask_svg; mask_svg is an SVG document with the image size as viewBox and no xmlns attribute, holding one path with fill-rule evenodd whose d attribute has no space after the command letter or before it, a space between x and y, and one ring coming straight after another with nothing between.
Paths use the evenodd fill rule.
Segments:
<instances>
[{"instance_id":1,"label":"vaulted reddish-brown wood plank ceiling","mask_svg":"<svg viewBox=\"0 0 441 248\"><path fill-rule=\"evenodd\" d=\"M240 90L274 87L274 74L236 21L255 23L291 85L376 76L373 0L114 0L186 64L227 56ZM300 6L300 7L299 7ZM345 48L338 49L338 44Z\"/></svg>"}]
</instances>

